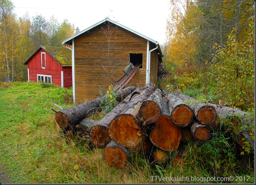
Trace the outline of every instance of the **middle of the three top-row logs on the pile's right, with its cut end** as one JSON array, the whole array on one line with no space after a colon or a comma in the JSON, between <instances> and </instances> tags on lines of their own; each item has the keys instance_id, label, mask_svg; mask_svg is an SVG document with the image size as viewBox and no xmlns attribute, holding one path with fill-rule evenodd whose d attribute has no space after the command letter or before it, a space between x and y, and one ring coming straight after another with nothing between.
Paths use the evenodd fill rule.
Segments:
<instances>
[{"instance_id":1,"label":"middle of the three top-row logs on the pile's right, with its cut end","mask_svg":"<svg viewBox=\"0 0 256 185\"><path fill-rule=\"evenodd\" d=\"M193 120L193 111L189 105L174 94L168 95L170 115L173 123L179 127L188 126Z\"/></svg>"}]
</instances>

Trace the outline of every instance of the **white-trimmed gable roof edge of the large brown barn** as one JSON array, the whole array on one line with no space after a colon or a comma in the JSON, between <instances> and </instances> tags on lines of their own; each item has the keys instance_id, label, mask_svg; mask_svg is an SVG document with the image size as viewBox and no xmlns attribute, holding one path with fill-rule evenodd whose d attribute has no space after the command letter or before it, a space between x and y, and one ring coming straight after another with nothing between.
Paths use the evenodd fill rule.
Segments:
<instances>
[{"instance_id":1,"label":"white-trimmed gable roof edge of the large brown barn","mask_svg":"<svg viewBox=\"0 0 256 185\"><path fill-rule=\"evenodd\" d=\"M71 44L72 45L72 39L73 38L83 34L84 32L87 32L87 31L91 30L92 28L94 28L94 27L96 27L96 26L98 26L98 25L100 25L100 24L102 24L102 23L104 23L106 21L111 22L111 23L113 23L113 24L115 24L115 25L117 25L117 26L119 26L121 28L124 28L124 29L126 29L126 30L128 30L128 31L130 31L130 32L132 32L132 33L134 33L134 34L136 34L138 36L141 36L142 38L145 38L146 40L149 40L150 42L153 42L154 44L158 45L158 42L156 40L153 40L151 38L148 38L147 36L144 36L143 34L135 32L134 30L132 30L130 28L127 28L126 26L123 26L122 24L119 24L118 22L115 22L115 21L113 21L113 20L111 20L109 18L105 18L104 20L102 20L102 21L100 21L100 22L90 26L89 28L86 28L85 30L83 30L83 31L81 31L81 32L79 32L77 34L74 34L70 38L67 38L66 40L63 40L62 44ZM161 52L160 47L159 47L159 51Z\"/></svg>"}]
</instances>

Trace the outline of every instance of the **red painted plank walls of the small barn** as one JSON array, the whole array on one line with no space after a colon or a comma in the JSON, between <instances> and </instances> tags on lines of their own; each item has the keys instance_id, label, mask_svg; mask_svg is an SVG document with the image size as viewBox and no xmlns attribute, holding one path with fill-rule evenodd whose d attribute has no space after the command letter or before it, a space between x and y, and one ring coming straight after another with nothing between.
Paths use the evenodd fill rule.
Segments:
<instances>
[{"instance_id":1,"label":"red painted plank walls of the small barn","mask_svg":"<svg viewBox=\"0 0 256 185\"><path fill-rule=\"evenodd\" d=\"M29 68L29 81L37 82L37 74L51 75L53 84L61 86L61 71L63 71L64 87L72 86L72 67L62 67L47 52L45 69L41 68L41 52L45 52L42 48L27 63Z\"/></svg>"}]
</instances>

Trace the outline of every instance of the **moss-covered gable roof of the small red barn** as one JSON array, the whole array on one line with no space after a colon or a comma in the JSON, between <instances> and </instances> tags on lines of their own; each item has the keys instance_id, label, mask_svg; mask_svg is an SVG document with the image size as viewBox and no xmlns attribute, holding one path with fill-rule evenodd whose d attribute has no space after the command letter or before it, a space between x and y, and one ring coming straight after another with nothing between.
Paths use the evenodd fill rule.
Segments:
<instances>
[{"instance_id":1,"label":"moss-covered gable roof of the small red barn","mask_svg":"<svg viewBox=\"0 0 256 185\"><path fill-rule=\"evenodd\" d=\"M53 47L53 46L40 46L24 64L27 64L29 60L40 50L45 50L56 62L63 67L72 67L72 51L68 48Z\"/></svg>"}]
</instances>

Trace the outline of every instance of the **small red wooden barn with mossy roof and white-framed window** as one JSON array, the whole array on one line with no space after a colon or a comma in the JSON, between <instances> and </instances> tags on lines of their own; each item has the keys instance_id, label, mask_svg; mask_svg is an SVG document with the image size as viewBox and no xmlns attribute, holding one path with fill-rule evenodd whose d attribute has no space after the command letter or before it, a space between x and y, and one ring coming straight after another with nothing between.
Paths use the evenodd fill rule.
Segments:
<instances>
[{"instance_id":1,"label":"small red wooden barn with mossy roof and white-framed window","mask_svg":"<svg viewBox=\"0 0 256 185\"><path fill-rule=\"evenodd\" d=\"M72 86L72 51L69 48L40 46L25 62L28 81Z\"/></svg>"}]
</instances>

